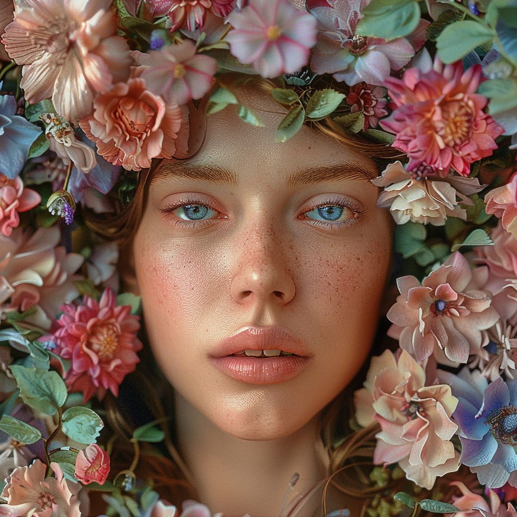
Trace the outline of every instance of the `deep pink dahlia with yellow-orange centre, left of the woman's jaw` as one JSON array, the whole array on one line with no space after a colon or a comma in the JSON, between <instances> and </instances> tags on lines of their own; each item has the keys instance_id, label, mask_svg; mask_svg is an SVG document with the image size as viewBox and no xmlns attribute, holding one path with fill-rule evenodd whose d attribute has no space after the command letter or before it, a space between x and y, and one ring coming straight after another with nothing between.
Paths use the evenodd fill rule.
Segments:
<instances>
[{"instance_id":1,"label":"deep pink dahlia with yellow-orange centre, left of the woman's jaw","mask_svg":"<svg viewBox=\"0 0 517 517\"><path fill-rule=\"evenodd\" d=\"M119 384L139 362L139 317L129 314L131 306L117 306L109 287L99 303L85 296L78 307L62 310L57 330L40 339L53 341L53 352L72 360L65 378L70 391L82 391L85 403L94 393L102 400L108 389L117 396Z\"/></svg>"}]
</instances>

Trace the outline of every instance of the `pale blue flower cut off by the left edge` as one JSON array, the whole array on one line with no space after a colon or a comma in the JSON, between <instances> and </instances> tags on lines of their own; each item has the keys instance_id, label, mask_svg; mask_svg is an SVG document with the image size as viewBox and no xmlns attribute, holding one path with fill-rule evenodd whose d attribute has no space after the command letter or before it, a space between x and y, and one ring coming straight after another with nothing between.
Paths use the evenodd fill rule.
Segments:
<instances>
[{"instance_id":1,"label":"pale blue flower cut off by the left edge","mask_svg":"<svg viewBox=\"0 0 517 517\"><path fill-rule=\"evenodd\" d=\"M16 99L0 95L0 172L14 179L23 169L41 129L16 115Z\"/></svg>"}]
</instances>

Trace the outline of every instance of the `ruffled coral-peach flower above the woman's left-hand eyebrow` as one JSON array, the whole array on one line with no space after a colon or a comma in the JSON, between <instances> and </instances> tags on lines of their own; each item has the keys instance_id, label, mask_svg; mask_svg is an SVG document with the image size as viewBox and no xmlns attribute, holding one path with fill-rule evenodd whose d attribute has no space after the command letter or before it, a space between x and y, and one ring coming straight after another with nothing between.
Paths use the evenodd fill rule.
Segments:
<instances>
[{"instance_id":1,"label":"ruffled coral-peach flower above the woman's left-hand eyebrow","mask_svg":"<svg viewBox=\"0 0 517 517\"><path fill-rule=\"evenodd\" d=\"M79 125L99 155L114 165L140 171L152 158L186 153L186 110L149 92L143 79L116 84L94 100L94 108Z\"/></svg>"}]
</instances>

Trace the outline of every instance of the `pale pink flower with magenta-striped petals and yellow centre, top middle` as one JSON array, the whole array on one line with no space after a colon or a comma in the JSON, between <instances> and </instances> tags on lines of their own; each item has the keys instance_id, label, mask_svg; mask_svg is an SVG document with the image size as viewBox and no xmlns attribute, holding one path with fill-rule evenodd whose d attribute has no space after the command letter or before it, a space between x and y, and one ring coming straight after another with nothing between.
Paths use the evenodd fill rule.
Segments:
<instances>
[{"instance_id":1,"label":"pale pink flower with magenta-striped petals and yellow centre, top middle","mask_svg":"<svg viewBox=\"0 0 517 517\"><path fill-rule=\"evenodd\" d=\"M316 19L287 0L250 0L226 21L234 27L226 35L231 54L241 63L253 63L266 78L307 65L309 49L316 42Z\"/></svg>"}]
</instances>

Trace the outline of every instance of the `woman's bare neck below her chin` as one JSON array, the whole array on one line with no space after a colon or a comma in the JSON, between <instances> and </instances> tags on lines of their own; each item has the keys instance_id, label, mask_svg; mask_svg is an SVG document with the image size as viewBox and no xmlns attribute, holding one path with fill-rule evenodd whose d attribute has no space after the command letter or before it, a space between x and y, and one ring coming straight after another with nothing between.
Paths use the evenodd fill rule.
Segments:
<instances>
[{"instance_id":1,"label":"woman's bare neck below her chin","mask_svg":"<svg viewBox=\"0 0 517 517\"><path fill-rule=\"evenodd\" d=\"M278 517L294 473L293 490L306 494L327 474L316 415L295 433L273 440L244 440L220 430L179 394L176 425L180 453L201 502L225 517ZM287 497L289 500L293 495ZM316 498L317 499L317 498ZM307 509L303 515L312 515Z\"/></svg>"}]
</instances>

